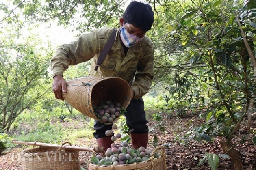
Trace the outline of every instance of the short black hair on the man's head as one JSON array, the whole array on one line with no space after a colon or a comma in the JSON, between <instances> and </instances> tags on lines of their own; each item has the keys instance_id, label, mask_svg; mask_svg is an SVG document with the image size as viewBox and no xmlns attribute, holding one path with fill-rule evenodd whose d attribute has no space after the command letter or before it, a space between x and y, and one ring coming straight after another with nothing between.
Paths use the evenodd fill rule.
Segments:
<instances>
[{"instance_id":1,"label":"short black hair on the man's head","mask_svg":"<svg viewBox=\"0 0 256 170\"><path fill-rule=\"evenodd\" d=\"M141 30L148 31L154 22L154 13L149 4L132 1L124 11L124 24L129 23Z\"/></svg>"}]
</instances>

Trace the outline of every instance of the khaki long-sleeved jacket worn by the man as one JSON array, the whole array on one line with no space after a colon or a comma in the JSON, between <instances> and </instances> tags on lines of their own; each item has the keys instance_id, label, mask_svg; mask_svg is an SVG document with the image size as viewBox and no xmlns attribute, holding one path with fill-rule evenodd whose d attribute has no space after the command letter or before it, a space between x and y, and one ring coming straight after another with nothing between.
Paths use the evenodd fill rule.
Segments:
<instances>
[{"instance_id":1,"label":"khaki long-sleeved jacket worn by the man","mask_svg":"<svg viewBox=\"0 0 256 170\"><path fill-rule=\"evenodd\" d=\"M124 56L124 47L119 35L120 28L118 28L111 50L98 67L98 71L94 70L100 52L114 29L116 28L100 28L83 34L76 41L61 45L51 59L53 77L63 75L69 65L77 65L92 59L89 71L92 76L120 77L129 83L136 71L131 87L135 92L134 97L145 95L154 77L154 47L147 36L137 45L130 47Z\"/></svg>"}]
</instances>

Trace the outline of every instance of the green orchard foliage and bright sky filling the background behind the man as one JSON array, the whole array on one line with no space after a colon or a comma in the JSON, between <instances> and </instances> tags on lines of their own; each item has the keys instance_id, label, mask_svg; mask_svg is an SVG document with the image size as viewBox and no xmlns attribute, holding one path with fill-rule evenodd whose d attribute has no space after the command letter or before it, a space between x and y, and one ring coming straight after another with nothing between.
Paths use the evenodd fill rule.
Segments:
<instances>
[{"instance_id":1,"label":"green orchard foliage and bright sky filling the background behind the man","mask_svg":"<svg viewBox=\"0 0 256 170\"><path fill-rule=\"evenodd\" d=\"M69 34L74 34L75 39L95 28L119 27L118 19L129 2L0 2L1 132L19 140L57 143L92 136L93 120L82 116L68 103L54 99L49 61L62 42L57 40L57 44L53 44L50 41L54 35L42 36L38 29L43 26L51 30L57 23L63 29L72 30ZM204 123L193 126L177 140L207 141L222 137L221 147L227 154L224 146L233 146L232 138L241 125L247 124L248 131L240 136L243 139L240 142L252 140L256 144L255 129L250 129L249 125L256 112L256 71L252 64L256 45L256 1L145 2L152 5L155 13L153 28L147 33L155 46L154 82L144 97L146 108L154 112L149 118L158 121L164 131L163 116L180 118L191 113L199 116ZM245 46L241 30L250 49ZM65 35L62 41L67 43L65 37L68 39ZM88 67L89 62L70 67L64 76L67 80L87 76ZM82 125L63 131L65 121ZM128 133L125 126L121 130ZM209 157L206 155L207 159Z\"/></svg>"}]
</instances>

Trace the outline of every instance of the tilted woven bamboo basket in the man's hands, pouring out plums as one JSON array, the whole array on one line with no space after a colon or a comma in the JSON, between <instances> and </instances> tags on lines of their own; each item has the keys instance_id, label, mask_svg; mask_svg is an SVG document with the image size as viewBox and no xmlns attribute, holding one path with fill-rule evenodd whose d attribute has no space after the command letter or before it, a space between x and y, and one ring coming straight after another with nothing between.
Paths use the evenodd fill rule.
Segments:
<instances>
[{"instance_id":1,"label":"tilted woven bamboo basket in the man's hands, pouring out plums","mask_svg":"<svg viewBox=\"0 0 256 170\"><path fill-rule=\"evenodd\" d=\"M102 101L109 100L121 103L121 107L126 109L132 97L129 84L118 77L81 77L70 80L67 82L67 92L62 93L62 96L73 108L98 121L93 105L98 106Z\"/></svg>"}]
</instances>

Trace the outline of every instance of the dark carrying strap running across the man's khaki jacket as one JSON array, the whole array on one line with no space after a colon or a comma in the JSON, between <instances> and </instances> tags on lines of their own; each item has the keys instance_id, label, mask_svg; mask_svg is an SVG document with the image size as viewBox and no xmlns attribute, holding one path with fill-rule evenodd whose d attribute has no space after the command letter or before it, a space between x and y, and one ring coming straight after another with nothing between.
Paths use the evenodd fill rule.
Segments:
<instances>
[{"instance_id":1,"label":"dark carrying strap running across the man's khaki jacket","mask_svg":"<svg viewBox=\"0 0 256 170\"><path fill-rule=\"evenodd\" d=\"M110 38L108 39L105 47L100 52L100 56L97 60L97 65L95 66L95 71L98 70L98 67L102 64L102 62L105 60L106 55L108 54L109 50L111 49L113 43L115 42L115 34L117 32L117 29L115 29L112 34L110 35Z\"/></svg>"}]
</instances>

